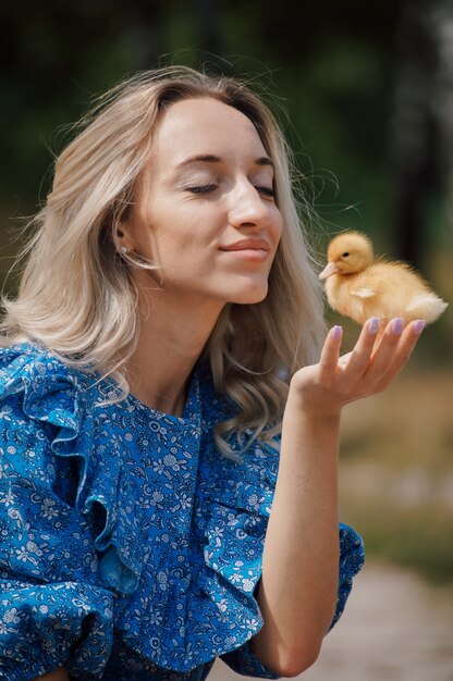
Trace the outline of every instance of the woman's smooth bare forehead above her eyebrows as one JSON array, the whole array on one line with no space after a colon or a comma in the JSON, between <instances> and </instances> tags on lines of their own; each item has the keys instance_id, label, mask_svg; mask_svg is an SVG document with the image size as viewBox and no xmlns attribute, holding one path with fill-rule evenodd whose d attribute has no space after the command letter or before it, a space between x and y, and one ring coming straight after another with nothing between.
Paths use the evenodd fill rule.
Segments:
<instances>
[{"instance_id":1,"label":"woman's smooth bare forehead above her eyebrows","mask_svg":"<svg viewBox=\"0 0 453 681\"><path fill-rule=\"evenodd\" d=\"M156 129L154 154L177 164L192 154L225 158L266 156L249 119L237 109L209 97L170 106Z\"/></svg>"}]
</instances>

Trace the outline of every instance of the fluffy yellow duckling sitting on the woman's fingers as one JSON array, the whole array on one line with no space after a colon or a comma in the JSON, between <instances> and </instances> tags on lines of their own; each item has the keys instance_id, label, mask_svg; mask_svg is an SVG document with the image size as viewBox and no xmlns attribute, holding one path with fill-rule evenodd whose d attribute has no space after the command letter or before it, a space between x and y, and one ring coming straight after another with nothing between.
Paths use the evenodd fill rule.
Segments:
<instances>
[{"instance_id":1,"label":"fluffy yellow duckling sitting on the woman's fingers","mask_svg":"<svg viewBox=\"0 0 453 681\"><path fill-rule=\"evenodd\" d=\"M406 322L438 319L448 307L409 265L375 259L370 239L359 232L343 232L328 247L326 280L329 305L364 324L378 317L382 324L401 317Z\"/></svg>"}]
</instances>

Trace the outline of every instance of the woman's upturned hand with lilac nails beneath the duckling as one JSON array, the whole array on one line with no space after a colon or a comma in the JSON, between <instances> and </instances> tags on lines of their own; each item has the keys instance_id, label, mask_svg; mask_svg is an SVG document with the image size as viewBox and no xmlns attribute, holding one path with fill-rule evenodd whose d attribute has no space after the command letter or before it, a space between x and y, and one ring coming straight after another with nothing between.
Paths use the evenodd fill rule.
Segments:
<instances>
[{"instance_id":1,"label":"woman's upturned hand with lilac nails beneath the duckling","mask_svg":"<svg viewBox=\"0 0 453 681\"><path fill-rule=\"evenodd\" d=\"M347 403L380 393L407 362L425 326L419 320L404 327L402 319L392 320L382 334L380 321L364 324L352 352L340 357L341 326L331 329L318 364L297 371L290 395L298 399L306 413L336 417Z\"/></svg>"}]
</instances>

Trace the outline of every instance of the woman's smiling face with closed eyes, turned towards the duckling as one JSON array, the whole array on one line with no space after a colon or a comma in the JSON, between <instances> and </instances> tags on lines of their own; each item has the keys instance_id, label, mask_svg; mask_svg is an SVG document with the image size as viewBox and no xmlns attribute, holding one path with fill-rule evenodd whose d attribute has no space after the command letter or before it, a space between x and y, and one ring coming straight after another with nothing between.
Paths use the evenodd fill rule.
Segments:
<instances>
[{"instance_id":1,"label":"woman's smiling face with closed eyes, turned towards the duckling","mask_svg":"<svg viewBox=\"0 0 453 681\"><path fill-rule=\"evenodd\" d=\"M211 98L171 104L156 131L123 244L161 265L134 270L192 304L262 300L282 232L273 170L253 123Z\"/></svg>"}]
</instances>

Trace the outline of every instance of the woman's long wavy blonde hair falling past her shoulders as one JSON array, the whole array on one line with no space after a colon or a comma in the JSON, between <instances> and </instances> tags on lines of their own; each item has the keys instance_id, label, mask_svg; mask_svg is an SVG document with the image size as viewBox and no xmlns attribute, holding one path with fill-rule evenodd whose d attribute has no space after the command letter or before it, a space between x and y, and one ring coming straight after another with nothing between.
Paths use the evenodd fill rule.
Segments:
<instances>
[{"instance_id":1,"label":"woman's long wavy blonde hair falling past her shoulders","mask_svg":"<svg viewBox=\"0 0 453 681\"><path fill-rule=\"evenodd\" d=\"M112 374L125 396L122 370L138 337L137 290L132 267L118 255L117 232L131 210L147 163L152 133L172 102L216 98L255 125L274 163L276 200L283 234L267 297L229 305L204 356L216 389L238 413L219 424L216 438L252 429L268 442L281 430L292 374L317 360L325 333L322 302L293 197L289 151L268 107L247 86L188 67L134 76L100 98L81 122L75 139L57 160L53 187L32 221L38 227L15 300L4 299L5 343L30 340L82 369Z\"/></svg>"}]
</instances>

